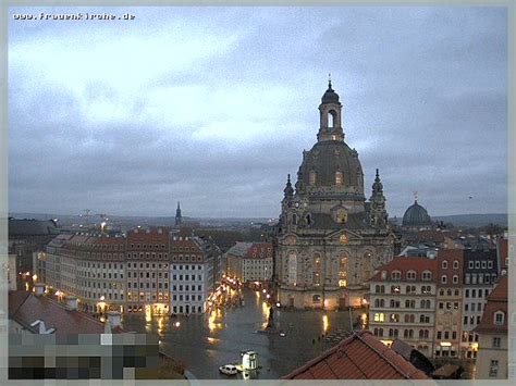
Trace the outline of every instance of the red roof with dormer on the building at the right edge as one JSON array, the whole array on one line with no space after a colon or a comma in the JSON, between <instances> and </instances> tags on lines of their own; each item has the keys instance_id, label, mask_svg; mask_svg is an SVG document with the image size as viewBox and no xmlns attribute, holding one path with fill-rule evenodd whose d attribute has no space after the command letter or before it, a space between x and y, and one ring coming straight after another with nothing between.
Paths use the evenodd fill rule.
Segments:
<instances>
[{"instance_id":1,"label":"red roof with dormer on the building at the right edge","mask_svg":"<svg viewBox=\"0 0 516 386\"><path fill-rule=\"evenodd\" d=\"M501 325L494 324L494 313L502 311L504 313L504 322ZM475 328L476 332L482 333L507 333L507 275L500 278L496 287L488 296L488 302L483 309L482 320Z\"/></svg>"}]
</instances>

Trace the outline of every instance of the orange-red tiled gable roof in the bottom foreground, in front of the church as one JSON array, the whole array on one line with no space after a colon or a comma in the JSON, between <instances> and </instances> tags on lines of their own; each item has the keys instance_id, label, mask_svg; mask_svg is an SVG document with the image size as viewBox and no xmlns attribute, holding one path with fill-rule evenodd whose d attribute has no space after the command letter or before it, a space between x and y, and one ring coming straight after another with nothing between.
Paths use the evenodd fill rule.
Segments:
<instances>
[{"instance_id":1,"label":"orange-red tiled gable roof in the bottom foreground, in front of the church","mask_svg":"<svg viewBox=\"0 0 516 386\"><path fill-rule=\"evenodd\" d=\"M423 372L377 339L353 334L282 379L429 379Z\"/></svg>"}]
</instances>

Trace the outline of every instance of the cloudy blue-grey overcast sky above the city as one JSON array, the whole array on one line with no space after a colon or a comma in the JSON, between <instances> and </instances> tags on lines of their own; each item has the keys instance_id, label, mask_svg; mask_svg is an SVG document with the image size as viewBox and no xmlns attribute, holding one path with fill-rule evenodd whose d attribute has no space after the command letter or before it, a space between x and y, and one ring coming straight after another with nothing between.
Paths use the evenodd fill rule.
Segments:
<instances>
[{"instance_id":1,"label":"cloudy blue-grey overcast sky above the city","mask_svg":"<svg viewBox=\"0 0 516 386\"><path fill-rule=\"evenodd\" d=\"M133 21L15 21L128 12ZM278 216L331 72L390 215L507 211L504 8L19 8L9 210ZM471 198L470 198L471 197Z\"/></svg>"}]
</instances>

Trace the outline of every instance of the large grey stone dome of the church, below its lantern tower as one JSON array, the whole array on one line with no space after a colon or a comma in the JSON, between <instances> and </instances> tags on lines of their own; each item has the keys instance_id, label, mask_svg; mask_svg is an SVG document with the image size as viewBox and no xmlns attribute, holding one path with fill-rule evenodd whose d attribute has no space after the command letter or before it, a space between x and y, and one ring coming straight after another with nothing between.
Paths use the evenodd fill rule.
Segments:
<instances>
[{"instance_id":1,"label":"large grey stone dome of the church, below its lantern tower","mask_svg":"<svg viewBox=\"0 0 516 386\"><path fill-rule=\"evenodd\" d=\"M310 184L310 174L315 174L316 187L336 186L336 173L342 173L343 187L356 187L364 192L364 174L358 153L341 140L319 141L310 151L304 152L297 180L300 188Z\"/></svg>"}]
</instances>

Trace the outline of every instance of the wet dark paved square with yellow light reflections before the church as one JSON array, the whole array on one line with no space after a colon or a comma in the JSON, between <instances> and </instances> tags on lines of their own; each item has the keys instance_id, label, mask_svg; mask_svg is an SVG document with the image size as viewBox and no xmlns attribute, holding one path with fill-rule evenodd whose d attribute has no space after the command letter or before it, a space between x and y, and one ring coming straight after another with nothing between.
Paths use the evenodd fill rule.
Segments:
<instances>
[{"instance_id":1,"label":"wet dark paved square with yellow light reflections before the church","mask_svg":"<svg viewBox=\"0 0 516 386\"><path fill-rule=\"evenodd\" d=\"M198 379L229 378L219 373L219 366L242 363L243 350L258 352L261 368L251 377L277 379L332 347L349 331L351 319L355 321L359 314L274 308L274 332L258 333L267 325L269 306L257 291L245 288L243 295L243 307L213 311L209 315L127 314L124 326L158 334L161 350L182 361Z\"/></svg>"}]
</instances>

